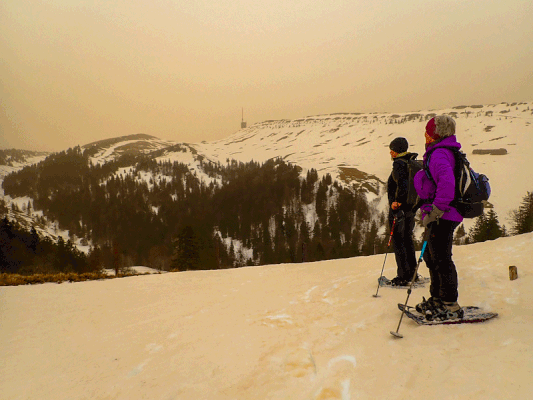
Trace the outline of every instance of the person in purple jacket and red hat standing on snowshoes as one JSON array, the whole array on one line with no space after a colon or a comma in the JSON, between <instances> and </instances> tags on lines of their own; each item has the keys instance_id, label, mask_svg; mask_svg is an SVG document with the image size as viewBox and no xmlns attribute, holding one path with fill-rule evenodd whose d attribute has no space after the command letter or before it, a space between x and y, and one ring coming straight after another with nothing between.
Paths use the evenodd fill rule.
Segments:
<instances>
[{"instance_id":1,"label":"person in purple jacket and red hat standing on snowshoes","mask_svg":"<svg viewBox=\"0 0 533 400\"><path fill-rule=\"evenodd\" d=\"M430 230L424 261L431 277L431 297L423 298L416 309L428 319L462 318L452 244L463 217L450 206L455 198L455 157L450 148L461 148L455 136L455 121L448 115L432 118L426 125L425 137L424 169L415 175L414 183L424 202L420 207L422 224Z\"/></svg>"}]
</instances>

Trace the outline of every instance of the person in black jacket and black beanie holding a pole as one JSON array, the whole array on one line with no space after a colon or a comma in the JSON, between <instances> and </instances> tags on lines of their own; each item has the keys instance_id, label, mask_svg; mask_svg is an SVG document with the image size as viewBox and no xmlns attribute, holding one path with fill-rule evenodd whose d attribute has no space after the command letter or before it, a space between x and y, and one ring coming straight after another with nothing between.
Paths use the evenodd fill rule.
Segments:
<instances>
[{"instance_id":1,"label":"person in black jacket and black beanie holding a pole","mask_svg":"<svg viewBox=\"0 0 533 400\"><path fill-rule=\"evenodd\" d=\"M392 279L393 286L407 286L413 279L416 270L415 246L413 229L415 227L415 211L413 204L407 203L409 191L409 167L407 160L416 159L416 153L409 153L409 143L403 137L394 139L390 145L392 172L387 182L389 198L389 228L392 229L392 246L396 258L397 276Z\"/></svg>"}]
</instances>

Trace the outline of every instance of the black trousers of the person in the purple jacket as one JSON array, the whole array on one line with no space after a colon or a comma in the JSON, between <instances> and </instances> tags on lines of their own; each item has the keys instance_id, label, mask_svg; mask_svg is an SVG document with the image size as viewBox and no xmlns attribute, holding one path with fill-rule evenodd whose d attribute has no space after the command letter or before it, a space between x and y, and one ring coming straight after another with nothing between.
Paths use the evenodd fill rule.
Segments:
<instances>
[{"instance_id":1,"label":"black trousers of the person in the purple jacket","mask_svg":"<svg viewBox=\"0 0 533 400\"><path fill-rule=\"evenodd\" d=\"M457 301L457 270L452 261L453 232L459 222L441 219L439 223L430 225L431 232L427 249L424 252L424 261L429 268L432 297L442 301Z\"/></svg>"}]
</instances>

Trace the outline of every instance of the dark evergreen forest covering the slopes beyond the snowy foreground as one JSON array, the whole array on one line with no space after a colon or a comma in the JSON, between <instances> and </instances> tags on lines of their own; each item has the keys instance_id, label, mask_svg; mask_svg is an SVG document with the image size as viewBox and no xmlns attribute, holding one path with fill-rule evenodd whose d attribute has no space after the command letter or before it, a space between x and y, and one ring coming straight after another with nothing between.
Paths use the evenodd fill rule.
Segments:
<instances>
[{"instance_id":1,"label":"dark evergreen forest covering the slopes beyond the snowy foreground","mask_svg":"<svg viewBox=\"0 0 533 400\"><path fill-rule=\"evenodd\" d=\"M157 162L153 155L124 155L103 165L92 165L89 156L79 147L69 149L3 182L7 195L31 197L33 208L48 220L92 243L89 254L70 241L53 243L4 219L3 272L85 272L132 265L218 269L387 250L387 238L378 235L384 215L372 215L363 194L330 175L319 178L313 169L302 177L299 167L281 159L263 164L227 160L226 165L200 161L201 172L212 179L206 183L187 165ZM512 234L533 231L532 204L528 193L514 212ZM455 243L506 234L489 209L470 232L460 226Z\"/></svg>"}]
</instances>

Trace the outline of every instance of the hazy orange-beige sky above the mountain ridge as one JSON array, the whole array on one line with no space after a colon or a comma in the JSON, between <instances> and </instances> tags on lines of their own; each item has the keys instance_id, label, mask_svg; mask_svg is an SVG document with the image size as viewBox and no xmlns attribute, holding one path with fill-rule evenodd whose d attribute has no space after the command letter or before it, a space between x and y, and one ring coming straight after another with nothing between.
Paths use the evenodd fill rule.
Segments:
<instances>
[{"instance_id":1,"label":"hazy orange-beige sky above the mountain ridge","mask_svg":"<svg viewBox=\"0 0 533 400\"><path fill-rule=\"evenodd\" d=\"M531 0L1 0L0 148L533 100Z\"/></svg>"}]
</instances>

